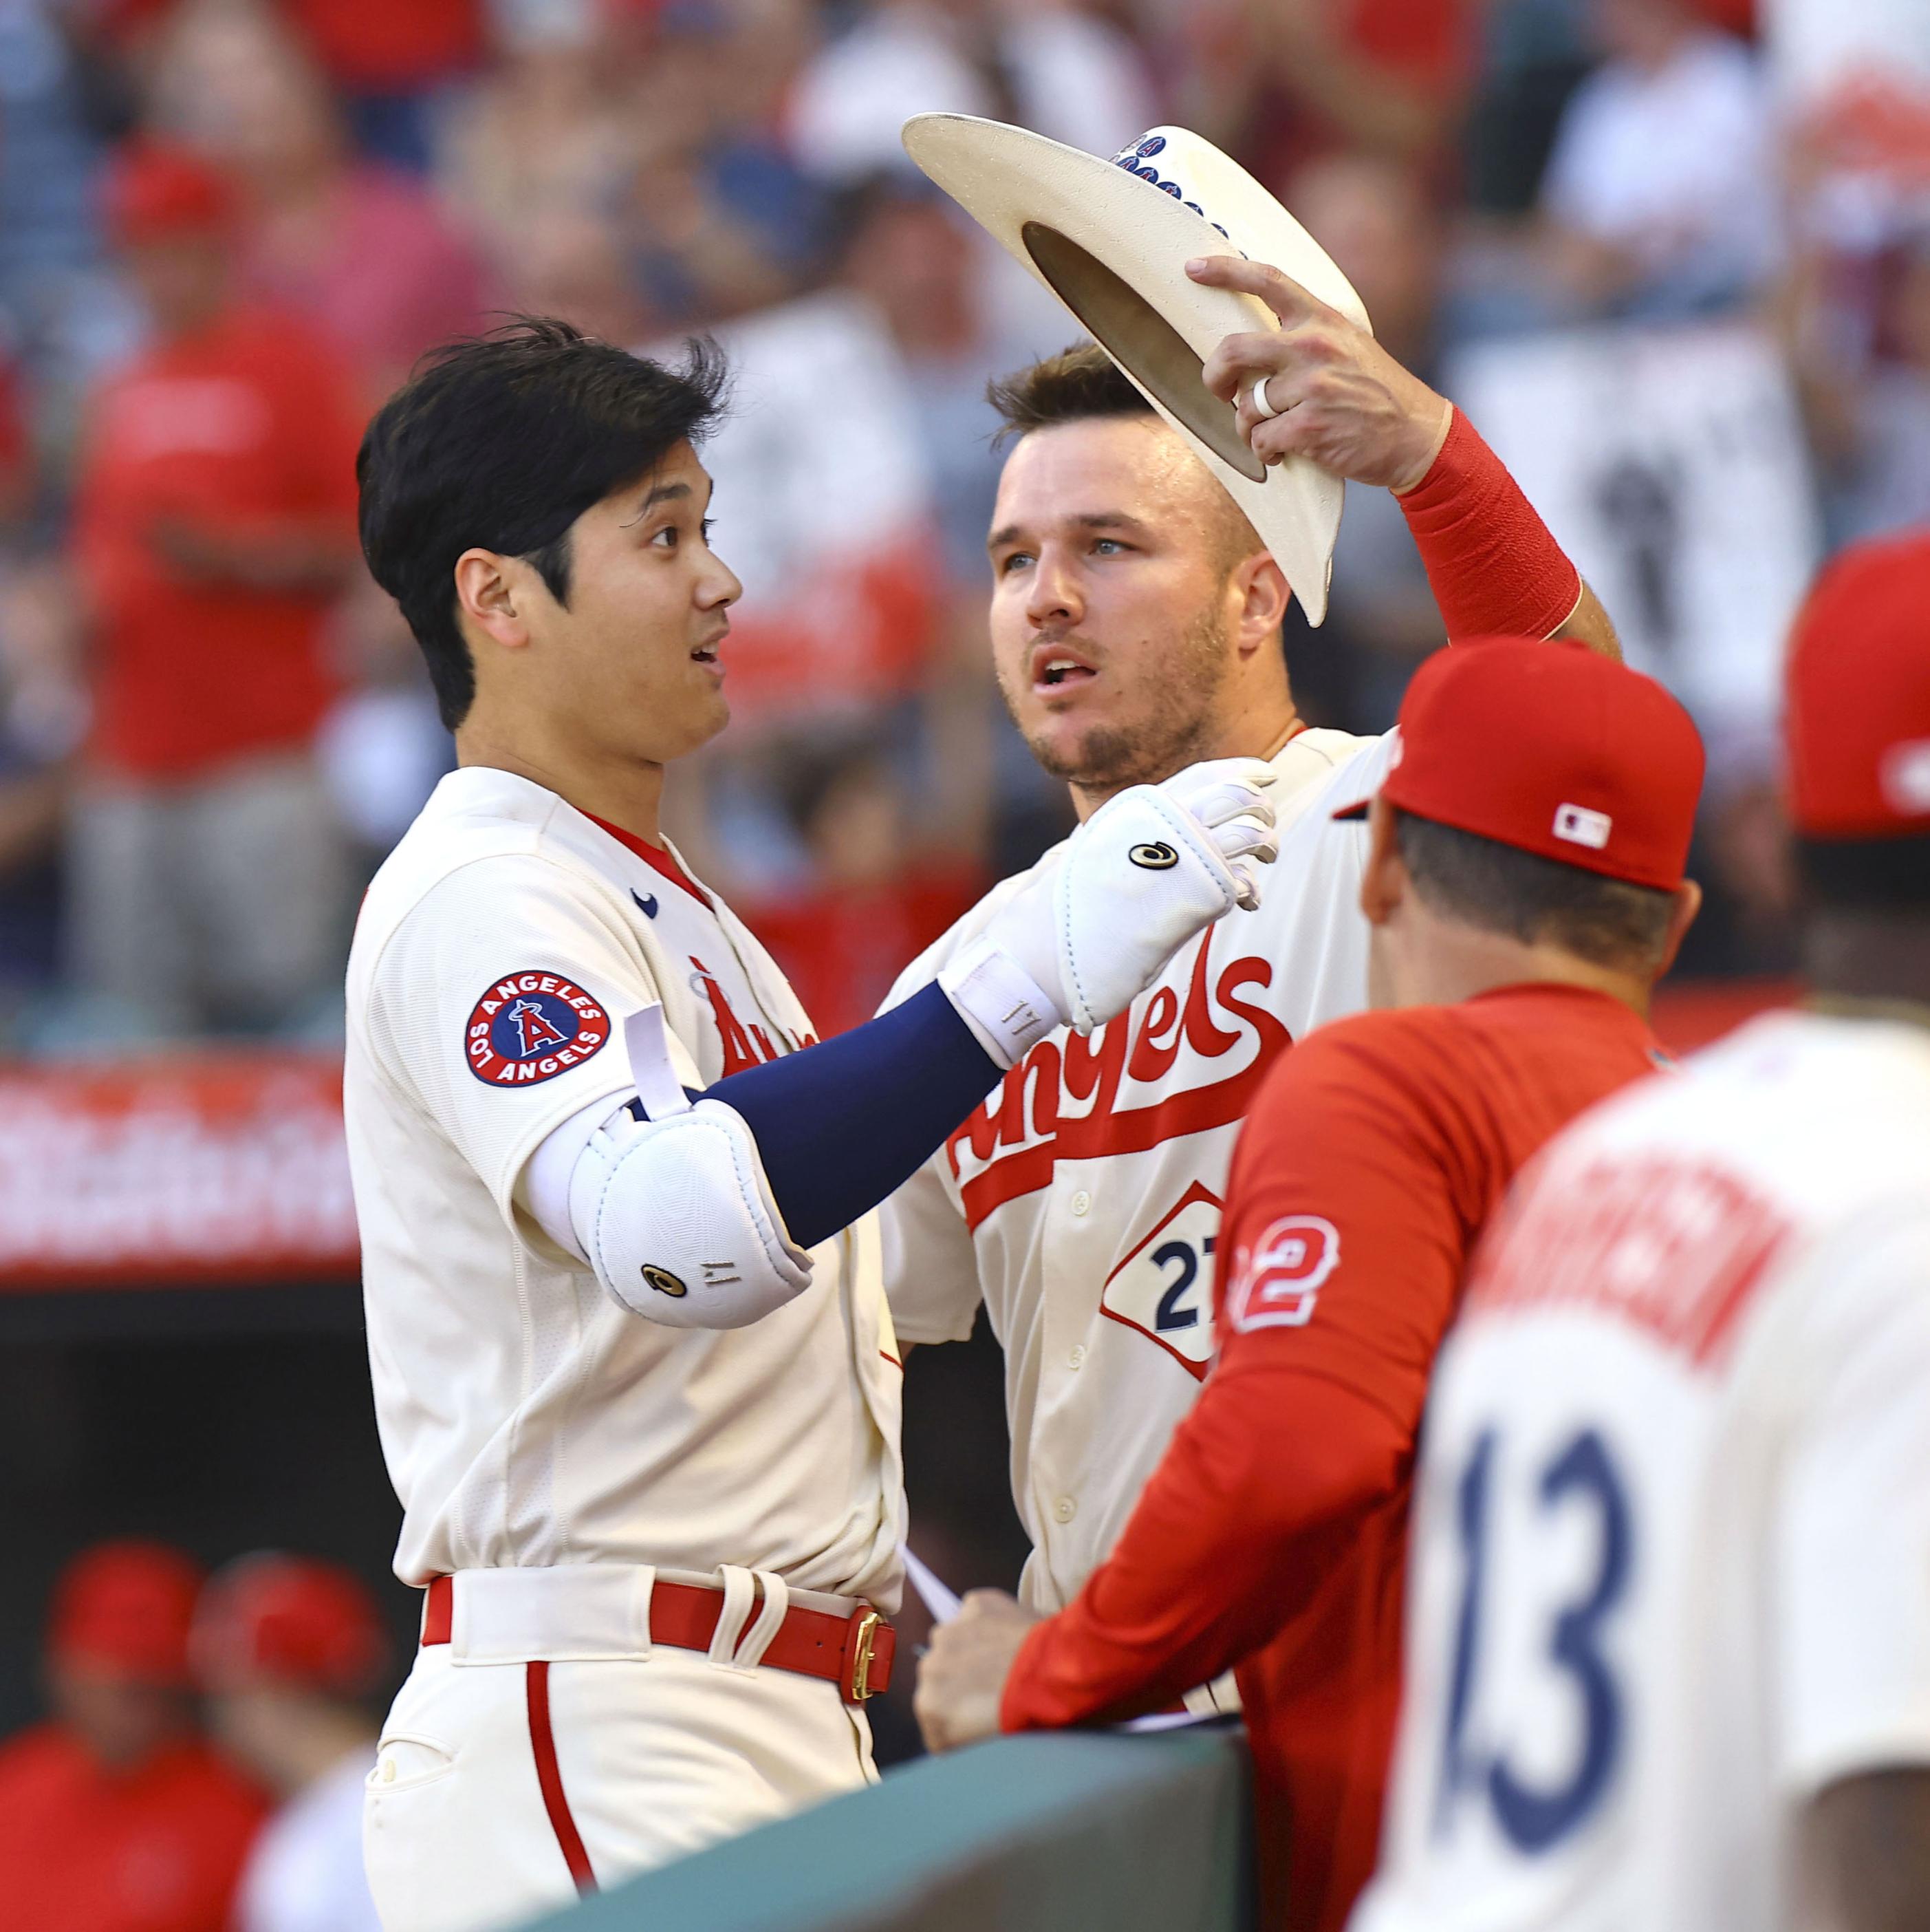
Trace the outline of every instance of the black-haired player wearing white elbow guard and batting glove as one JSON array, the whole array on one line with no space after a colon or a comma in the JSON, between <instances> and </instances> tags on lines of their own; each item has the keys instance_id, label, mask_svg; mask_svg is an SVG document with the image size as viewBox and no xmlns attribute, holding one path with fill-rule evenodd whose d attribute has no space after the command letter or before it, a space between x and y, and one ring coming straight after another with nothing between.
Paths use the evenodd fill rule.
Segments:
<instances>
[{"instance_id":1,"label":"black-haired player wearing white elbow guard and batting glove","mask_svg":"<svg viewBox=\"0 0 1930 1932\"><path fill-rule=\"evenodd\" d=\"M721 381L525 323L361 448L363 549L460 763L348 970L377 1420L427 1590L365 1812L388 1932L524 1918L873 1776L902 1509L867 1209L1271 852L1252 759L1136 786L920 999L815 1045L657 823L726 719L738 582L692 440Z\"/></svg>"}]
</instances>

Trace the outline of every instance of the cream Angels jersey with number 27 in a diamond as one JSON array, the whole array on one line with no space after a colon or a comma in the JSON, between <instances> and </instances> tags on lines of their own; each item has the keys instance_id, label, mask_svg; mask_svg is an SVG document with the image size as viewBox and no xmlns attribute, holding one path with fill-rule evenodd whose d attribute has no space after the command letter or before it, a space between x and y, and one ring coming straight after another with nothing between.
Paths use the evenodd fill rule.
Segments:
<instances>
[{"instance_id":1,"label":"cream Angels jersey with number 27 in a diamond","mask_svg":"<svg viewBox=\"0 0 1930 1932\"><path fill-rule=\"evenodd\" d=\"M1024 1602L1063 1609L1105 1559L1213 1350L1211 1271L1240 1121L1308 1028L1368 1003L1362 825L1389 738L1304 730L1273 759L1279 860L1117 1020L1039 1041L881 1209L898 1333L1005 1347ZM1059 850L1005 881L893 989L935 978Z\"/></svg>"}]
</instances>

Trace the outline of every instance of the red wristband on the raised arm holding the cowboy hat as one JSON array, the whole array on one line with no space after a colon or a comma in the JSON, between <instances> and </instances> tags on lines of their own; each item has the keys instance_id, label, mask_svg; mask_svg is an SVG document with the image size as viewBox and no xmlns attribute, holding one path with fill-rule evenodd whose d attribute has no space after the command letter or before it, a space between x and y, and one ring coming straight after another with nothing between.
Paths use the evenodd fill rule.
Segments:
<instances>
[{"instance_id":1,"label":"red wristband on the raised arm holding the cowboy hat","mask_svg":"<svg viewBox=\"0 0 1930 1932\"><path fill-rule=\"evenodd\" d=\"M1449 641L1551 638L1575 614L1582 574L1459 410L1433 466L1395 500Z\"/></svg>"}]
</instances>

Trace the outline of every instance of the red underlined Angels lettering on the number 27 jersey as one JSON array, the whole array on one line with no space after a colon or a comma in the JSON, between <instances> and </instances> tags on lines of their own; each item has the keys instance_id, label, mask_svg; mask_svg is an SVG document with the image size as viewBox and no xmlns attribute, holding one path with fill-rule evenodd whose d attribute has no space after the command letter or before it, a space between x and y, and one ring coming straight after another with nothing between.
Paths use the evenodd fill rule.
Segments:
<instances>
[{"instance_id":1,"label":"red underlined Angels lettering on the number 27 jersey","mask_svg":"<svg viewBox=\"0 0 1930 1932\"><path fill-rule=\"evenodd\" d=\"M1273 966L1236 958L1215 974L1213 931L1194 952L1184 1003L1161 985L1092 1037L1041 1039L951 1136L947 1155L972 1229L1051 1186L1059 1161L1142 1153L1246 1113L1292 1034L1242 997L1271 985ZM1153 1094L1132 1105L1142 1086Z\"/></svg>"}]
</instances>

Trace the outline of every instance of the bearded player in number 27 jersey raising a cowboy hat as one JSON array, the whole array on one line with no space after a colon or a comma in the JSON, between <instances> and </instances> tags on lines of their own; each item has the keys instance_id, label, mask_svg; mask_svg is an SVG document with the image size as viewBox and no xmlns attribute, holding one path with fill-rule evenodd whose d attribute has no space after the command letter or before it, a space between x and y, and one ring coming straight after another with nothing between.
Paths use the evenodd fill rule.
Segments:
<instances>
[{"instance_id":1,"label":"bearded player in number 27 jersey raising a cowboy hat","mask_svg":"<svg viewBox=\"0 0 1930 1932\"><path fill-rule=\"evenodd\" d=\"M1254 452L1304 450L1397 491L1449 638L1613 653L1600 603L1464 415L1279 270L1215 257L1190 272L1281 317L1281 332L1233 336L1206 365L1217 394L1238 394ZM1240 1121L1291 1041L1368 1005L1368 840L1327 817L1374 790L1393 740L1300 721L1279 566L1097 348L993 400L1016 442L989 541L991 639L1034 755L1080 813L1196 757L1267 759L1281 854L1258 918L1211 927L1090 1039L1032 1047L885 1208L898 1335L964 1339L983 1302L1005 1345L1012 1495L1032 1538L1020 1596L1051 1611L1113 1548L1206 1376ZM993 889L893 997L927 985L1057 864Z\"/></svg>"}]
</instances>

